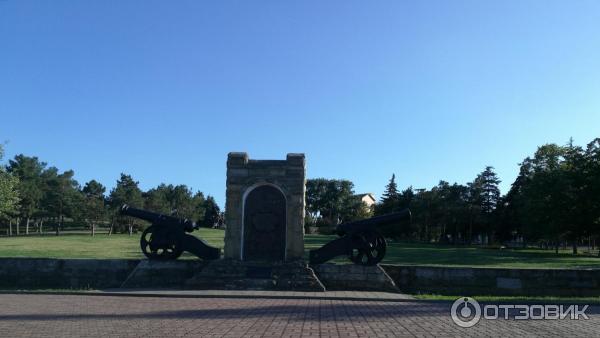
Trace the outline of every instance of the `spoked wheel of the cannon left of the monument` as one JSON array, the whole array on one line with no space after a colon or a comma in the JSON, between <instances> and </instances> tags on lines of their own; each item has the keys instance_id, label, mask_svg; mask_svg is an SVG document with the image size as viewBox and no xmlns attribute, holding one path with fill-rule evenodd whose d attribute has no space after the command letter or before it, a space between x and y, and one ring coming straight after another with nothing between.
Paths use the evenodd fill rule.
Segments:
<instances>
[{"instance_id":1,"label":"spoked wheel of the cannon left of the monument","mask_svg":"<svg viewBox=\"0 0 600 338\"><path fill-rule=\"evenodd\" d=\"M153 225L142 233L140 247L148 259L177 259L183 253L176 232L159 231Z\"/></svg>"}]
</instances>

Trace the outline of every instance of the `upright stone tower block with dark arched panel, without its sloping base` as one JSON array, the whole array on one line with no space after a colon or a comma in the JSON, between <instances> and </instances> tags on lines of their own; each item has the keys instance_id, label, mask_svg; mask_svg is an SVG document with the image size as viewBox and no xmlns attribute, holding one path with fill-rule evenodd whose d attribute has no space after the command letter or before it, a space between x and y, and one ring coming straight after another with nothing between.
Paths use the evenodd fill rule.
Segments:
<instances>
[{"instance_id":1,"label":"upright stone tower block with dark arched panel, without its sloping base","mask_svg":"<svg viewBox=\"0 0 600 338\"><path fill-rule=\"evenodd\" d=\"M304 154L251 160L229 153L225 214L226 259L282 262L304 255Z\"/></svg>"}]
</instances>

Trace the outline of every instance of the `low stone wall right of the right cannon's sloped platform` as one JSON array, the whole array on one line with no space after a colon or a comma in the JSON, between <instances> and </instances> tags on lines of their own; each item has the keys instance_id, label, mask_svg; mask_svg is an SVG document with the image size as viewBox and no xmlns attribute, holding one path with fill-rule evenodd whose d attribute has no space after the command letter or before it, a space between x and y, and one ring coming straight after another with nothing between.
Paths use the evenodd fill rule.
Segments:
<instances>
[{"instance_id":1,"label":"low stone wall right of the right cannon's sloped platform","mask_svg":"<svg viewBox=\"0 0 600 338\"><path fill-rule=\"evenodd\" d=\"M600 269L382 265L400 290L447 295L600 295Z\"/></svg>"}]
</instances>

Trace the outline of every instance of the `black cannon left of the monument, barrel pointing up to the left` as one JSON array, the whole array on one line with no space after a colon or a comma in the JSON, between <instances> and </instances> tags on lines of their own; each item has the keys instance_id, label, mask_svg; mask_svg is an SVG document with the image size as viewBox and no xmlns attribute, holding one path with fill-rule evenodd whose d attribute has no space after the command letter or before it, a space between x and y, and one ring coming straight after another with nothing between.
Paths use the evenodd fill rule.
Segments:
<instances>
[{"instance_id":1,"label":"black cannon left of the monument, barrel pointing up to the left","mask_svg":"<svg viewBox=\"0 0 600 338\"><path fill-rule=\"evenodd\" d=\"M198 228L190 220L136 209L126 204L121 207L120 213L152 223L140 238L142 252L149 259L177 259L184 251L203 259L218 259L221 255L218 248L186 234Z\"/></svg>"}]
</instances>

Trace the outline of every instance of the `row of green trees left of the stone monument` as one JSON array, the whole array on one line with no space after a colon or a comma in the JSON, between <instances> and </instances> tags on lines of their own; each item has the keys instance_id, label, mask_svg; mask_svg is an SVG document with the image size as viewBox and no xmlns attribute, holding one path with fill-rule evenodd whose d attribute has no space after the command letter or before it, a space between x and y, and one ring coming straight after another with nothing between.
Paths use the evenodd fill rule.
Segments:
<instances>
[{"instance_id":1,"label":"row of green trees left of the stone monument","mask_svg":"<svg viewBox=\"0 0 600 338\"><path fill-rule=\"evenodd\" d=\"M2 158L0 147L0 159ZM60 172L37 157L17 155L0 167L0 224L8 235L43 233L57 235L68 223L83 225L95 233L97 226L109 234L130 234L145 222L118 214L123 204L196 221L201 226L222 224L222 213L212 196L193 192L185 185L160 184L142 191L130 175L121 174L108 195L96 180L81 186L74 171Z\"/></svg>"}]
</instances>

